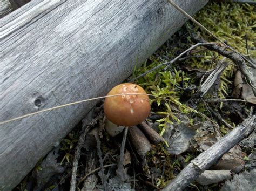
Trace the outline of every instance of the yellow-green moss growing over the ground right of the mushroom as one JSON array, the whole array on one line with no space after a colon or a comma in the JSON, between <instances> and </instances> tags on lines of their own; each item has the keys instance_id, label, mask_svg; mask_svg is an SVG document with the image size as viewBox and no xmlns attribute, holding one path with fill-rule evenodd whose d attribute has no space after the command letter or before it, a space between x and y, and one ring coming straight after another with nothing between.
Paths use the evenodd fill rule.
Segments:
<instances>
[{"instance_id":1,"label":"yellow-green moss growing over the ground right of the mushroom","mask_svg":"<svg viewBox=\"0 0 256 191\"><path fill-rule=\"evenodd\" d=\"M250 6L248 4L218 4L211 2L197 13L196 19L208 30L213 32L214 35L225 41L225 43L238 52L246 55L247 39L249 54L252 57L256 57L255 6ZM191 22L188 23L191 25ZM159 64L163 64L167 61L165 58L171 60L177 57L181 52L192 46L193 43L187 35L189 32L186 31L186 28L189 26L188 23L186 27L184 26L183 29L177 32L178 34L176 35L178 37L176 37L176 35L172 37L172 40L170 41L171 46L167 46L166 44L161 46L160 49L142 65L142 67L134 70L133 77L137 77ZM193 30L194 32L197 32L198 35L208 40L208 42L216 42L216 39L208 35L205 31L201 31L198 26L194 26ZM143 86L147 93L156 96L151 97L152 111L161 116L161 119L157 120L157 122L159 122L159 132L161 135L164 134L166 128L169 124L172 124L173 121L179 122L178 116L180 113L189 115L191 124L193 124L195 117L197 118L197 121L206 120L206 117L200 113L204 113L211 117L211 113L208 112L203 102L197 104L197 111L192 110L185 104L196 91L193 89L186 91L186 88L199 86L199 81L196 72L185 72L181 68L181 65L190 66L190 68L192 68L191 71L193 69L211 71L212 69L215 69L215 66L223 59L223 57L216 52L208 51L204 47L198 47L191 51L191 55L194 57L188 58L182 63L173 63L167 70L165 70L166 65L161 66L157 70L153 70L135 81L135 83ZM229 65L220 77L219 90L217 93L219 98L231 97L234 73L235 70L237 70L235 64L232 63L231 60L226 59L225 62L228 62ZM159 97L164 97L166 100ZM204 98L213 98L213 95L208 93L204 95ZM214 105L211 107L214 107ZM191 113L199 113L199 115L191 115ZM234 125L230 119L227 118L225 120L231 125ZM222 134L226 134L228 131L230 130L224 125L220 125L220 132ZM164 176L156 179L156 185L158 187L164 187L167 181L174 178L175 174L173 173L173 170L180 170L180 162L177 159L171 159L171 156L166 154L163 147L157 147L156 149L156 151L151 152L147 156L148 162L150 165L161 169L163 163L159 162L159 158L164 158L165 162L169 161L165 164L166 172ZM189 162L192 158L194 158L193 154L188 153L185 155L186 162Z\"/></svg>"}]
</instances>

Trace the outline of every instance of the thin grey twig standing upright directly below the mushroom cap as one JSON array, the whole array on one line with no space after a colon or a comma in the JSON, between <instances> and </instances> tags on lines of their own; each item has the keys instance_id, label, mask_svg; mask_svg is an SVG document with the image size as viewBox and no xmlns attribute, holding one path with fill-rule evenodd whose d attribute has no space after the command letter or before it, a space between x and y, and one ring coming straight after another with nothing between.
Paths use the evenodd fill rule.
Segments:
<instances>
[{"instance_id":1,"label":"thin grey twig standing upright directly below the mushroom cap","mask_svg":"<svg viewBox=\"0 0 256 191\"><path fill-rule=\"evenodd\" d=\"M126 172L124 171L124 147L125 147L128 128L129 127L125 127L125 129L124 129L123 141L122 141L122 146L120 149L120 156L119 156L119 160L117 162L117 174L122 181L125 181L129 178L127 176Z\"/></svg>"}]
</instances>

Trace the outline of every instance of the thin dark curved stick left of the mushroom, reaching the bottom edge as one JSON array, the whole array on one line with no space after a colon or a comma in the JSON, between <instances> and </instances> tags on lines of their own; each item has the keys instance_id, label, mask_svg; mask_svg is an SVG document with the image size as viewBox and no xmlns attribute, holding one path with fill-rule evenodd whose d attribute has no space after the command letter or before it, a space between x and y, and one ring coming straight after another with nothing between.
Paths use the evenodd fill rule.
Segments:
<instances>
[{"instance_id":1,"label":"thin dark curved stick left of the mushroom, reaching the bottom edge","mask_svg":"<svg viewBox=\"0 0 256 191\"><path fill-rule=\"evenodd\" d=\"M82 134L79 137L77 147L76 147L76 151L75 151L74 161L73 161L72 176L71 176L71 182L70 182L70 191L75 191L76 190L76 178L77 178L78 161L80 159L80 152L81 152L82 146L84 145L86 134L96 124L97 120L98 120L98 117L93 119L93 121L89 125L83 126L83 128L81 130Z\"/></svg>"}]
</instances>

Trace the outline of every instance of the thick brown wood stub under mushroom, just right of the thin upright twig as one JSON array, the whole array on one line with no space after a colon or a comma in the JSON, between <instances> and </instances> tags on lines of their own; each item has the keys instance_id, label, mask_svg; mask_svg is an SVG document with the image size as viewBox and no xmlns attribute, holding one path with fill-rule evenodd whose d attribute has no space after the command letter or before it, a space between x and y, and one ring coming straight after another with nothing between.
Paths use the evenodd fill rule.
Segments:
<instances>
[{"instance_id":1,"label":"thick brown wood stub under mushroom, just right of the thin upright twig","mask_svg":"<svg viewBox=\"0 0 256 191\"><path fill-rule=\"evenodd\" d=\"M147 152L152 148L150 141L146 138L144 133L140 131L137 126L132 126L128 129L128 138L140 158L144 159Z\"/></svg>"}]
</instances>

